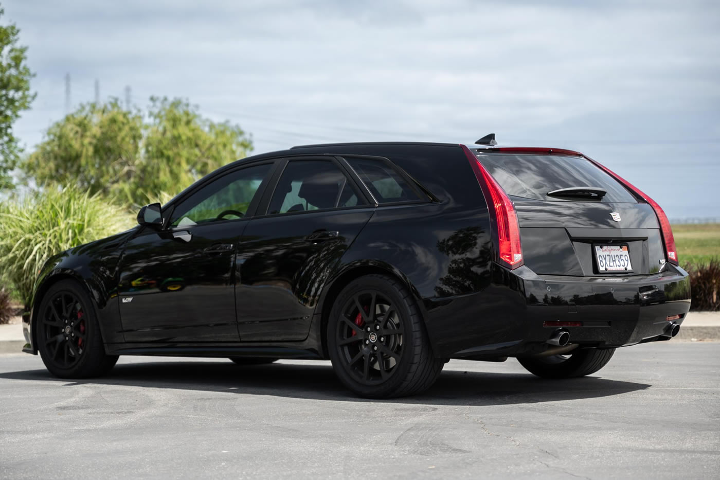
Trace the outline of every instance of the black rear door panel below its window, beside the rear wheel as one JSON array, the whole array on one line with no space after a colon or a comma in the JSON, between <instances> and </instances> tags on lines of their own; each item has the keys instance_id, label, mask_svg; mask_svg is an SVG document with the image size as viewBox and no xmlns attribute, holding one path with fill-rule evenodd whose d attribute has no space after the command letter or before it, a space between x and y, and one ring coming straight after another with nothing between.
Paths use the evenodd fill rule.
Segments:
<instances>
[{"instance_id":1,"label":"black rear door panel below its window, beside the rear wheel","mask_svg":"<svg viewBox=\"0 0 720 480\"><path fill-rule=\"evenodd\" d=\"M254 218L238 246L240 340L302 340L323 286L373 207Z\"/></svg>"}]
</instances>

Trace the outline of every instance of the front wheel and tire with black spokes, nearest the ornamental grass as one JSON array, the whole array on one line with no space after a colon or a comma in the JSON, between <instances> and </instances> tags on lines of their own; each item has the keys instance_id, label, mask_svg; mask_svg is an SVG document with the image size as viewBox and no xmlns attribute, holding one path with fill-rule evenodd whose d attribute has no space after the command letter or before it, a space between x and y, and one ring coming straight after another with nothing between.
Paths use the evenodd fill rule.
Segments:
<instances>
[{"instance_id":1,"label":"front wheel and tire with black spokes, nearest the ornamental grass","mask_svg":"<svg viewBox=\"0 0 720 480\"><path fill-rule=\"evenodd\" d=\"M105 353L93 302L74 280L50 287L34 324L42 363L57 377L95 377L117 363L117 355Z\"/></svg>"}]
</instances>

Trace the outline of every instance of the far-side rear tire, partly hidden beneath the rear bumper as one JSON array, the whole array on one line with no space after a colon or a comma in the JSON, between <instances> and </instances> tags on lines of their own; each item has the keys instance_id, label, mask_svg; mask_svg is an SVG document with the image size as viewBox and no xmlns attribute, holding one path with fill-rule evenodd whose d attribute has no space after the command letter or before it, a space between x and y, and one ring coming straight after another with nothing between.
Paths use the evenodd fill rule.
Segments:
<instances>
[{"instance_id":1,"label":"far-side rear tire, partly hidden beneath the rear bumper","mask_svg":"<svg viewBox=\"0 0 720 480\"><path fill-rule=\"evenodd\" d=\"M571 355L518 358L528 372L542 378L576 378L595 373L603 368L615 353L614 348L588 348Z\"/></svg>"}]
</instances>

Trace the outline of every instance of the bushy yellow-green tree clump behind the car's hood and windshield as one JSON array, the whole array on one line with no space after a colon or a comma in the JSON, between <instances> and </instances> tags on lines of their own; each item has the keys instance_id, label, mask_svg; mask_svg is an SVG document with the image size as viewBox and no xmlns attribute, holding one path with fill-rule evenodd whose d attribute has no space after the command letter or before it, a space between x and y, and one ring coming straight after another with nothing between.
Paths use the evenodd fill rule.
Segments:
<instances>
[{"instance_id":1,"label":"bushy yellow-green tree clump behind the car's hood and windshield","mask_svg":"<svg viewBox=\"0 0 720 480\"><path fill-rule=\"evenodd\" d=\"M39 185L77 185L136 208L251 150L238 125L204 119L185 100L151 97L145 115L117 101L82 105L50 126L22 168Z\"/></svg>"}]
</instances>

